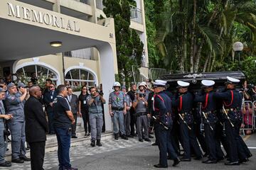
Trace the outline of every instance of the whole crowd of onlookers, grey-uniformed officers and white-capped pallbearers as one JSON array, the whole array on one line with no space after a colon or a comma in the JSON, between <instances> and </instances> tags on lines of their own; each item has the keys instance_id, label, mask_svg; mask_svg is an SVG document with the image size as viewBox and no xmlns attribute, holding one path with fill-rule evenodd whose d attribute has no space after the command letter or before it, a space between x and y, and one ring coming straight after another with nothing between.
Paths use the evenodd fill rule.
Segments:
<instances>
[{"instance_id":1,"label":"whole crowd of onlookers, grey-uniformed officers and white-capped pallbearers","mask_svg":"<svg viewBox=\"0 0 256 170\"><path fill-rule=\"evenodd\" d=\"M204 164L215 164L225 158L226 165L247 162L252 154L239 133L241 127L252 128L252 107L247 103L242 105L247 92L235 90L238 81L227 77L225 91L215 92L215 82L203 80L203 89L196 94L189 92L190 84L185 81L177 81L176 94L166 90L166 81L161 80L154 81L152 88L149 82L140 83L138 88L132 84L128 92L126 86L114 82L108 98L114 140L138 137L139 142L151 142L154 129L156 141L152 145L160 150L156 168L167 167L167 159L173 159L176 166L190 162L193 156L196 160L207 157ZM31 169L43 169L48 133L57 137L60 169L75 170L70 164L69 150L70 138L77 138L78 116L82 117L85 137L90 136L90 146L102 146L106 103L102 86L97 90L95 86L87 89L84 85L76 96L72 87L61 84L56 88L50 79L44 89L35 83L6 84L0 80L0 166L31 161ZM11 162L6 162L9 135ZM26 157L25 142L31 148L31 159Z\"/></svg>"}]
</instances>

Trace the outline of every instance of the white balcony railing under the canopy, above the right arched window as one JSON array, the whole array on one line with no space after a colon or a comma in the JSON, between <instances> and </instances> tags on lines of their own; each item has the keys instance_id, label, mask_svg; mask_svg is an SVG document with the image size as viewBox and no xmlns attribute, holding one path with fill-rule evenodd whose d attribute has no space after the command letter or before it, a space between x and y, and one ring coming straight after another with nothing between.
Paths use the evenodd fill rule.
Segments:
<instances>
[{"instance_id":1,"label":"white balcony railing under the canopy, above the right arched window","mask_svg":"<svg viewBox=\"0 0 256 170\"><path fill-rule=\"evenodd\" d=\"M91 48L85 48L85 49L80 49L80 50L63 52L63 56L92 60Z\"/></svg>"}]
</instances>

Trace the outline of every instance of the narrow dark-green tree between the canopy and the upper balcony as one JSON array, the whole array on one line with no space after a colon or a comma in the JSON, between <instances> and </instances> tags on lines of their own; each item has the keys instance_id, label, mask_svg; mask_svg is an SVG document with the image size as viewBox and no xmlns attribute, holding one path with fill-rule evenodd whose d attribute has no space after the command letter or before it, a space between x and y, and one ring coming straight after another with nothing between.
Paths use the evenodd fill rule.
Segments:
<instances>
[{"instance_id":1,"label":"narrow dark-green tree between the canopy and the upper balcony","mask_svg":"<svg viewBox=\"0 0 256 170\"><path fill-rule=\"evenodd\" d=\"M105 15L114 18L119 81L124 81L125 84L132 82L132 65L141 65L144 46L135 30L129 28L129 3L134 1L103 0Z\"/></svg>"}]
</instances>

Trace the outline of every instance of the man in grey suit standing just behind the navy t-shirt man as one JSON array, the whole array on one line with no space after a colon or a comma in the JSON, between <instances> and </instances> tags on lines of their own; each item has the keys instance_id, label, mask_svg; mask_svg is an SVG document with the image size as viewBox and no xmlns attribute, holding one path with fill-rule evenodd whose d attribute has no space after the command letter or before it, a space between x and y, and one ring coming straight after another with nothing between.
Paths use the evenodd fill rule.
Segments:
<instances>
[{"instance_id":1,"label":"man in grey suit standing just behind the navy t-shirt man","mask_svg":"<svg viewBox=\"0 0 256 170\"><path fill-rule=\"evenodd\" d=\"M79 106L78 105L78 96L73 94L73 91L72 91L71 87L68 87L67 90L68 90L68 96L67 96L68 103L70 104L71 112L73 113L74 118L75 118L75 124L71 125L71 129L72 129L71 130L71 135L72 135L72 138L78 138L75 134L78 114L80 115L79 108L78 108L78 106Z\"/></svg>"}]
</instances>

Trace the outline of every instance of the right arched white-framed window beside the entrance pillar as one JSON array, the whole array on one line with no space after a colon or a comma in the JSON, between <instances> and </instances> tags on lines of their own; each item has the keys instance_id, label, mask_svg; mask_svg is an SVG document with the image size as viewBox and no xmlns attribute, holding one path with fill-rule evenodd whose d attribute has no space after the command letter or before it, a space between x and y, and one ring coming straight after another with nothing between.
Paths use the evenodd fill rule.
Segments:
<instances>
[{"instance_id":1,"label":"right arched white-framed window beside the entrance pillar","mask_svg":"<svg viewBox=\"0 0 256 170\"><path fill-rule=\"evenodd\" d=\"M86 85L87 87L95 86L96 80L94 74L86 69L70 69L65 74L65 84L72 87Z\"/></svg>"}]
</instances>

